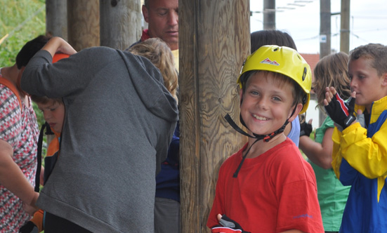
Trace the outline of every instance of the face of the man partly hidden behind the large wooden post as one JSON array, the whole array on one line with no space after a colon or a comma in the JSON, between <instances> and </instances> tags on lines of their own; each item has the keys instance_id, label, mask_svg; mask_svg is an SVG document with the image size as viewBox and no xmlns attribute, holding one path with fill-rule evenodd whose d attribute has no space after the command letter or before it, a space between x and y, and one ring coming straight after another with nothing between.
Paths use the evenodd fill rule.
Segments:
<instances>
[{"instance_id":1,"label":"face of the man partly hidden behind the large wooden post","mask_svg":"<svg viewBox=\"0 0 387 233\"><path fill-rule=\"evenodd\" d=\"M143 15L150 37L159 37L172 51L178 49L178 0L149 0Z\"/></svg>"}]
</instances>

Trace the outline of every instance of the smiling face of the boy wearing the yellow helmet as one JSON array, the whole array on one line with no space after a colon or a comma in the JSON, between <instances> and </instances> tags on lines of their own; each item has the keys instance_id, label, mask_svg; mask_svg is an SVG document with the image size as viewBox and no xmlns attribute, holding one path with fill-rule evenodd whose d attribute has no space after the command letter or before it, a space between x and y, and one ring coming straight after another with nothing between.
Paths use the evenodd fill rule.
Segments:
<instances>
[{"instance_id":1,"label":"smiling face of the boy wearing the yellow helmet","mask_svg":"<svg viewBox=\"0 0 387 233\"><path fill-rule=\"evenodd\" d=\"M247 80L244 93L240 90L241 116L253 133L266 135L277 131L293 112L294 87L278 79L272 72L257 72ZM296 106L289 121L296 118L303 105Z\"/></svg>"}]
</instances>

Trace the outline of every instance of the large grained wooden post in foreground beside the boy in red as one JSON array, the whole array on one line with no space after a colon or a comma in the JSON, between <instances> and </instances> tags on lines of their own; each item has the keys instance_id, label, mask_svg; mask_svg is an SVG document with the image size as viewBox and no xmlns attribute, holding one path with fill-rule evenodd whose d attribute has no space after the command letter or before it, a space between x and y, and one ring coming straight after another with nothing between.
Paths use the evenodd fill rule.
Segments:
<instances>
[{"instance_id":1,"label":"large grained wooden post in foreground beside the boy in red","mask_svg":"<svg viewBox=\"0 0 387 233\"><path fill-rule=\"evenodd\" d=\"M249 51L249 0L179 0L182 232L211 232L218 170L247 142L224 116L239 122L236 81Z\"/></svg>"}]
</instances>

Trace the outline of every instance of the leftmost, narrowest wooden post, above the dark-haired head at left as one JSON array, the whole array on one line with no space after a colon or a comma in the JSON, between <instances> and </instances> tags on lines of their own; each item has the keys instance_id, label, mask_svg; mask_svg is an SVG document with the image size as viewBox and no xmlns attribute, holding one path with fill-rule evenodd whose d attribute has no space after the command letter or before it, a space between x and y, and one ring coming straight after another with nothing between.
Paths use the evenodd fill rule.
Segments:
<instances>
[{"instance_id":1,"label":"leftmost, narrowest wooden post, above the dark-haired head at left","mask_svg":"<svg viewBox=\"0 0 387 233\"><path fill-rule=\"evenodd\" d=\"M46 0L46 34L67 41L67 1Z\"/></svg>"}]
</instances>

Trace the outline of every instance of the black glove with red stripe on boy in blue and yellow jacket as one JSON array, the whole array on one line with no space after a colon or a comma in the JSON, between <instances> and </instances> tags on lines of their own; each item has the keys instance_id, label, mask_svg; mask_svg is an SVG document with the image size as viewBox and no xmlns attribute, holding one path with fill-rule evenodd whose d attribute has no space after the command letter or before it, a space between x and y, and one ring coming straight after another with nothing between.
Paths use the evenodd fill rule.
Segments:
<instances>
[{"instance_id":1,"label":"black glove with red stripe on boy in blue and yellow jacket","mask_svg":"<svg viewBox=\"0 0 387 233\"><path fill-rule=\"evenodd\" d=\"M350 126L356 120L356 116L354 115L355 98L353 97L348 98L347 102L344 102L339 94L336 93L331 102L329 102L329 105L324 107L332 121L343 129Z\"/></svg>"}]
</instances>

